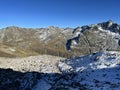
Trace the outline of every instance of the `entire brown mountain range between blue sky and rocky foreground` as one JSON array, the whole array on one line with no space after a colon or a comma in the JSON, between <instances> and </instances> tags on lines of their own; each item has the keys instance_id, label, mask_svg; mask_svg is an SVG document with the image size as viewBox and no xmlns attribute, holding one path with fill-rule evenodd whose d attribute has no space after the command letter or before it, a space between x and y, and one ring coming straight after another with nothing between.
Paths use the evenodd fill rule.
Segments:
<instances>
[{"instance_id":1,"label":"entire brown mountain range between blue sky and rocky foreground","mask_svg":"<svg viewBox=\"0 0 120 90\"><path fill-rule=\"evenodd\" d=\"M73 28L20 28L0 30L0 56L49 54L79 56L101 50L120 51L120 25L110 21Z\"/></svg>"}]
</instances>

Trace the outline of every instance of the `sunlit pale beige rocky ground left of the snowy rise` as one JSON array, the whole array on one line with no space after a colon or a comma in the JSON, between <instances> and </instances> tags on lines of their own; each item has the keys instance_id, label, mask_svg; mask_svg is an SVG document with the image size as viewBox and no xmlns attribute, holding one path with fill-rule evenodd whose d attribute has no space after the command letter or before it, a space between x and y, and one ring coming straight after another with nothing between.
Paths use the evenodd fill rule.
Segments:
<instances>
[{"instance_id":1,"label":"sunlit pale beige rocky ground left of the snowy rise","mask_svg":"<svg viewBox=\"0 0 120 90\"><path fill-rule=\"evenodd\" d=\"M60 59L63 58L50 55L30 56L27 58L0 58L0 68L10 68L21 72L59 73L56 63Z\"/></svg>"}]
</instances>

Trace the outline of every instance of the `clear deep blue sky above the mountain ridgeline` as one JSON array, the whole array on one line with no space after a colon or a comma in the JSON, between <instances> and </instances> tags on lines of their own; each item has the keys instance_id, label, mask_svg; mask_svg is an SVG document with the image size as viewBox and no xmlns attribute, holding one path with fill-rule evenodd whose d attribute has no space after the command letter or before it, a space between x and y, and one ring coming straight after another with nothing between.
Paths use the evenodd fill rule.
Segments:
<instances>
[{"instance_id":1,"label":"clear deep blue sky above the mountain ridgeline","mask_svg":"<svg viewBox=\"0 0 120 90\"><path fill-rule=\"evenodd\" d=\"M109 19L120 23L120 0L0 0L0 28L77 27Z\"/></svg>"}]
</instances>

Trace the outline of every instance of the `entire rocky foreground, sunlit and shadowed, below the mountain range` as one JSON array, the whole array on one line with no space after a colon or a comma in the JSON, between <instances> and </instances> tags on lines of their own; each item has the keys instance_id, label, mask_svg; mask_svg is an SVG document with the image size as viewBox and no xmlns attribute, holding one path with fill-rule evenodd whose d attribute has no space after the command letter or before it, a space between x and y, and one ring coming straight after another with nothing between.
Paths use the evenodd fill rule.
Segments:
<instances>
[{"instance_id":1,"label":"entire rocky foreground, sunlit and shadowed, below the mountain range","mask_svg":"<svg viewBox=\"0 0 120 90\"><path fill-rule=\"evenodd\" d=\"M119 52L97 52L70 59L46 55L2 58L0 68L1 90L120 89Z\"/></svg>"}]
</instances>

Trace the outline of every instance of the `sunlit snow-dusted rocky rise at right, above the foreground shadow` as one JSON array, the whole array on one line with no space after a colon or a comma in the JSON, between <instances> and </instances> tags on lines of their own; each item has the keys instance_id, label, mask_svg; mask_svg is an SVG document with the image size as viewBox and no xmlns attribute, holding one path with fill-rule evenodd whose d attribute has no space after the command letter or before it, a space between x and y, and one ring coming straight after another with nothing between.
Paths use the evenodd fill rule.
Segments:
<instances>
[{"instance_id":1,"label":"sunlit snow-dusted rocky rise at right, above the foreground shadow","mask_svg":"<svg viewBox=\"0 0 120 90\"><path fill-rule=\"evenodd\" d=\"M58 67L61 71L71 70L81 72L85 69L104 69L116 67L120 64L119 52L98 52L91 55L70 58L59 62ZM78 71L80 69L80 71Z\"/></svg>"}]
</instances>

